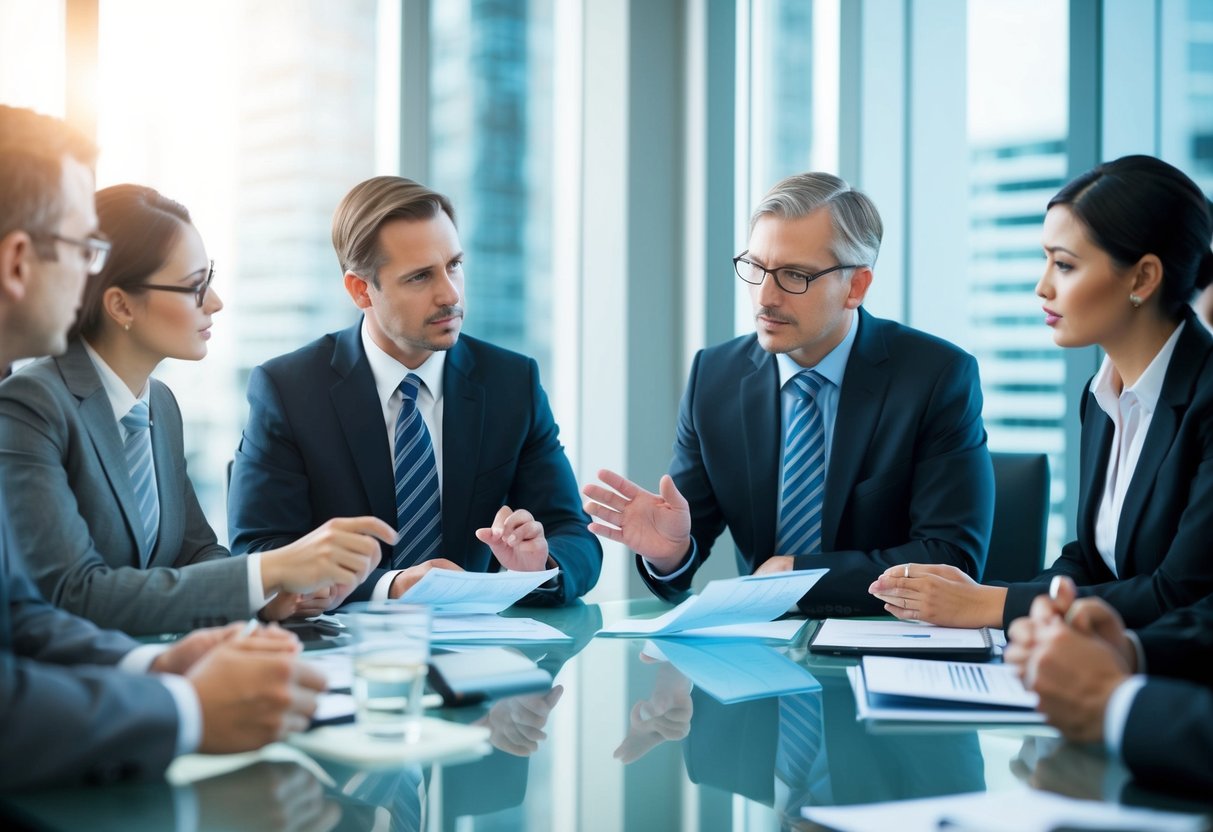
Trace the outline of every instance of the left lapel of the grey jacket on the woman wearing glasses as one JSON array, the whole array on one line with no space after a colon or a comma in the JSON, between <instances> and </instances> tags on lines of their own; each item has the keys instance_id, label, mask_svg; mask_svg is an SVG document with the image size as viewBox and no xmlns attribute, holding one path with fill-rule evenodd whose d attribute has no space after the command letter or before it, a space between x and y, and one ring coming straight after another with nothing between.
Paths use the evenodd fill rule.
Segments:
<instances>
[{"instance_id":1,"label":"left lapel of the grey jacket on the woman wearing glasses","mask_svg":"<svg viewBox=\"0 0 1213 832\"><path fill-rule=\"evenodd\" d=\"M143 517L139 514L135 488L131 485L131 472L126 467L126 452L118 433L114 408L101 383L101 376L97 375L97 367L79 341L73 341L67 353L55 359L55 364L63 376L68 392L80 401L80 421L92 439L97 461L123 511L126 534L131 536L133 549L139 553L141 563L131 565L142 566L148 559L148 552L144 552L147 541L143 537Z\"/></svg>"}]
</instances>

